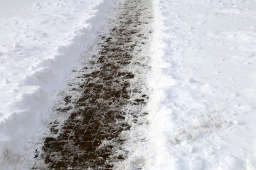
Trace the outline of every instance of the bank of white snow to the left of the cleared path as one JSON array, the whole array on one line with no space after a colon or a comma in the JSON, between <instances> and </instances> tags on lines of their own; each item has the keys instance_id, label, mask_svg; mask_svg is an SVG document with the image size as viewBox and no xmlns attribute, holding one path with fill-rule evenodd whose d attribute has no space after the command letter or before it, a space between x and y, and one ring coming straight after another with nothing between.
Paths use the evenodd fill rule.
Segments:
<instances>
[{"instance_id":1,"label":"bank of white snow to the left of the cleared path","mask_svg":"<svg viewBox=\"0 0 256 170\"><path fill-rule=\"evenodd\" d=\"M0 1L0 169L29 169L63 80L92 45L113 0ZM33 157L33 154L31 154Z\"/></svg>"}]
</instances>

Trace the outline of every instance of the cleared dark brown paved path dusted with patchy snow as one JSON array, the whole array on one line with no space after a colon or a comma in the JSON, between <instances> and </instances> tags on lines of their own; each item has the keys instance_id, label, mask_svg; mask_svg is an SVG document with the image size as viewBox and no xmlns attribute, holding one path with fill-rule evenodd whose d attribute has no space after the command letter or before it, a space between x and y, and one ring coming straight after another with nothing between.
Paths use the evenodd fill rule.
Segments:
<instances>
[{"instance_id":1,"label":"cleared dark brown paved path dusted with patchy snow","mask_svg":"<svg viewBox=\"0 0 256 170\"><path fill-rule=\"evenodd\" d=\"M145 166L137 149L146 142L151 2L119 1L111 16L60 94L33 169Z\"/></svg>"}]
</instances>

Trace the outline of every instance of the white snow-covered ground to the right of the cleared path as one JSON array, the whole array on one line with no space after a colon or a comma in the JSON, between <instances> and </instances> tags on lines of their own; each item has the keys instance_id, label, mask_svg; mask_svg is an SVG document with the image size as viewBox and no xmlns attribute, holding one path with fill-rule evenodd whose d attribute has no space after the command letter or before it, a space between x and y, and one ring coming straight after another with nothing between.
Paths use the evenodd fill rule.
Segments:
<instances>
[{"instance_id":1,"label":"white snow-covered ground to the right of the cleared path","mask_svg":"<svg viewBox=\"0 0 256 170\"><path fill-rule=\"evenodd\" d=\"M156 0L154 12L149 169L255 170L256 1Z\"/></svg>"}]
</instances>

